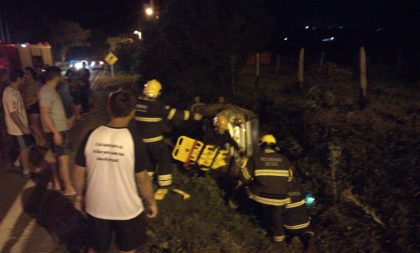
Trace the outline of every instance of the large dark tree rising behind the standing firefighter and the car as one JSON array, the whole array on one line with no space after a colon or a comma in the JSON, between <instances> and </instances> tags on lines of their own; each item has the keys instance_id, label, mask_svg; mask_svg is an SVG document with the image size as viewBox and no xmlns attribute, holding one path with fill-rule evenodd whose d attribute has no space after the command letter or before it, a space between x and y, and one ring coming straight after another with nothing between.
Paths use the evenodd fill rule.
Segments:
<instances>
[{"instance_id":1,"label":"large dark tree rising behind the standing firefighter and the car","mask_svg":"<svg viewBox=\"0 0 420 253\"><path fill-rule=\"evenodd\" d=\"M210 96L233 92L232 75L264 48L271 27L263 1L254 0L172 0L148 25L141 74Z\"/></svg>"}]
</instances>

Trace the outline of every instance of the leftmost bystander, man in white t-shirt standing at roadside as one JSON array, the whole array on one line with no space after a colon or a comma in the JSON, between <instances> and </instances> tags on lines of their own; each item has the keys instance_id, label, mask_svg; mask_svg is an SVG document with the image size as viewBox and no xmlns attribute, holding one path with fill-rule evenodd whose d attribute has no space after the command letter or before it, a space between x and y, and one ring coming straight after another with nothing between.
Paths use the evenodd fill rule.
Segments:
<instances>
[{"instance_id":1,"label":"leftmost bystander, man in white t-shirt standing at roadside","mask_svg":"<svg viewBox=\"0 0 420 253\"><path fill-rule=\"evenodd\" d=\"M29 148L33 145L33 139L29 130L25 105L19 92L19 86L23 84L23 75L24 73L20 70L10 72L11 83L3 92L2 101L7 133L12 136L16 147L19 149L22 174L29 177Z\"/></svg>"}]
</instances>

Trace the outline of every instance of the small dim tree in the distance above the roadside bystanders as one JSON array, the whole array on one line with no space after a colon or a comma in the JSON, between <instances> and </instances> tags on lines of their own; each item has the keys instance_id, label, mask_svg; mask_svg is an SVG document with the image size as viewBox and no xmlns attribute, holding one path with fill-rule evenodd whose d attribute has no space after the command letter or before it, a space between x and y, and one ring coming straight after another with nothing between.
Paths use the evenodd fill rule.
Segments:
<instances>
[{"instance_id":1,"label":"small dim tree in the distance above the roadside bystanders","mask_svg":"<svg viewBox=\"0 0 420 253\"><path fill-rule=\"evenodd\" d=\"M88 47L89 30L83 29L79 23L60 21L51 26L51 40L57 47L62 62L66 60L67 52L73 47Z\"/></svg>"}]
</instances>

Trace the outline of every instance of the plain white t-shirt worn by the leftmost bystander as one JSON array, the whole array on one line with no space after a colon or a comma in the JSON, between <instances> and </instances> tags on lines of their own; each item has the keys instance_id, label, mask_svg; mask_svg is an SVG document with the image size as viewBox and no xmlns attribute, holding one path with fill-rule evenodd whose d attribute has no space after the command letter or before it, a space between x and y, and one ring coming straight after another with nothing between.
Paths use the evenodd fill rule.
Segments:
<instances>
[{"instance_id":1,"label":"plain white t-shirt worn by the leftmost bystander","mask_svg":"<svg viewBox=\"0 0 420 253\"><path fill-rule=\"evenodd\" d=\"M23 135L22 130L13 121L10 114L16 112L23 125L28 128L28 116L26 115L25 105L23 104L20 92L8 86L3 92L3 108L6 118L7 133L10 135ZM29 129L29 128L28 128Z\"/></svg>"}]
</instances>

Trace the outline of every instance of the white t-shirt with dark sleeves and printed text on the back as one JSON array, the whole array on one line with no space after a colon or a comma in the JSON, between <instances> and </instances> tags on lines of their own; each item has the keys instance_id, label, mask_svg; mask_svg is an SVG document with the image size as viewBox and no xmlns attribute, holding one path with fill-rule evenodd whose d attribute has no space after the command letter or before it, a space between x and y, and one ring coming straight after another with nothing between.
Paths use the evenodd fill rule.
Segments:
<instances>
[{"instance_id":1,"label":"white t-shirt with dark sleeves and printed text on the back","mask_svg":"<svg viewBox=\"0 0 420 253\"><path fill-rule=\"evenodd\" d=\"M143 212L135 173L151 165L146 147L134 131L96 128L81 143L76 164L87 169L87 213L100 219L129 220Z\"/></svg>"}]
</instances>

